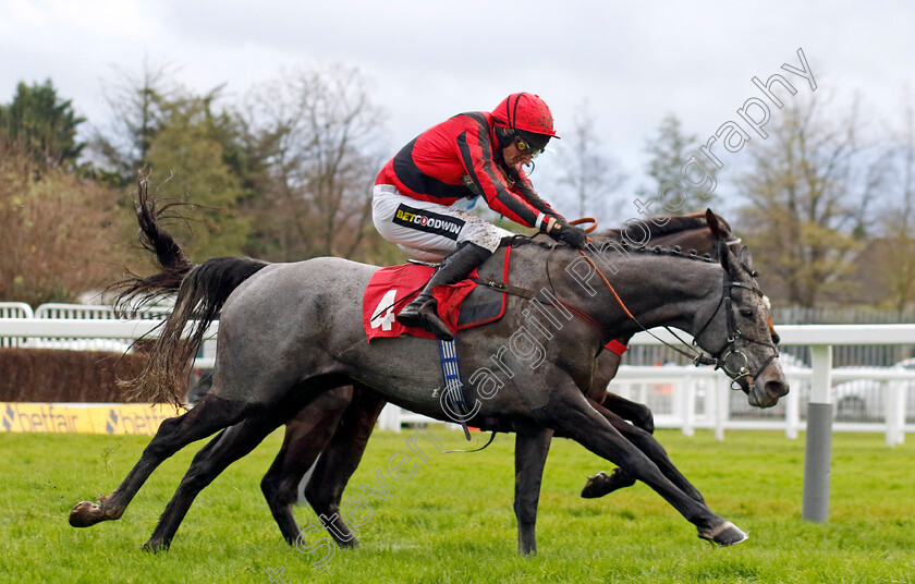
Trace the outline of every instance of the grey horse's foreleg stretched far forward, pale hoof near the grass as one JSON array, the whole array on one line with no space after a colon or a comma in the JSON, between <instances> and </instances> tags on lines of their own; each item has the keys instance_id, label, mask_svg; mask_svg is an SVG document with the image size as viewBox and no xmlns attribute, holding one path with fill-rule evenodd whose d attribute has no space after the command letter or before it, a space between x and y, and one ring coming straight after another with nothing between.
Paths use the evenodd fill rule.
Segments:
<instances>
[{"instance_id":1,"label":"grey horse's foreleg stretched far forward, pale hoof near the grass","mask_svg":"<svg viewBox=\"0 0 915 584\"><path fill-rule=\"evenodd\" d=\"M727 546L746 539L746 534L683 492L644 452L623 437L591 407L575 388L553 391L547 411L554 424L578 443L606 458L631 476L651 487L699 531L699 537Z\"/></svg>"}]
</instances>

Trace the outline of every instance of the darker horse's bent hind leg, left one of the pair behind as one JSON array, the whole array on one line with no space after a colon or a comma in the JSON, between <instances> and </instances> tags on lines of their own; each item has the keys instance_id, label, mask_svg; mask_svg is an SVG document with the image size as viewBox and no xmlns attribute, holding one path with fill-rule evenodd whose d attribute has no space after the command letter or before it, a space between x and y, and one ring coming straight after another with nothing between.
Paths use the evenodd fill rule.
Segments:
<instances>
[{"instance_id":1,"label":"darker horse's bent hind leg, left one of the pair behind","mask_svg":"<svg viewBox=\"0 0 915 584\"><path fill-rule=\"evenodd\" d=\"M298 484L330 441L343 412L352 401L352 386L331 389L289 421L283 446L260 482L260 490L264 491L270 512L290 545L295 543L301 533L292 512Z\"/></svg>"}]
</instances>

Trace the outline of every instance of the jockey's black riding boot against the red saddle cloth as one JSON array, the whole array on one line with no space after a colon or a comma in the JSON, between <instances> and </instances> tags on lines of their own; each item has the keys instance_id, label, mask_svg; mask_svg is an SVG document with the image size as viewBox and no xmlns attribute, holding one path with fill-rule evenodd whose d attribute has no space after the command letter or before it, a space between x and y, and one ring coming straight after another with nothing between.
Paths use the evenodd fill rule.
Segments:
<instances>
[{"instance_id":1,"label":"jockey's black riding boot against the red saddle cloth","mask_svg":"<svg viewBox=\"0 0 915 584\"><path fill-rule=\"evenodd\" d=\"M432 288L460 282L491 255L492 252L475 243L466 243L459 247L441 260L419 295L400 312L398 323L405 327L425 329L442 341L454 340L454 334L436 313L436 299L432 297Z\"/></svg>"}]
</instances>

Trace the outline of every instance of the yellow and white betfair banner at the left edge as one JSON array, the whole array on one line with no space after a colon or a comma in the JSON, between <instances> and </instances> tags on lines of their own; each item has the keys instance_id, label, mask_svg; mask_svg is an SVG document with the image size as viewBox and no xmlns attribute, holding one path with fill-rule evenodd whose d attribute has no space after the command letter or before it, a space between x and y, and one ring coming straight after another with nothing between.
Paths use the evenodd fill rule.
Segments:
<instances>
[{"instance_id":1,"label":"yellow and white betfair banner at the left edge","mask_svg":"<svg viewBox=\"0 0 915 584\"><path fill-rule=\"evenodd\" d=\"M152 436L162 421L185 410L162 403L0 402L0 431Z\"/></svg>"}]
</instances>

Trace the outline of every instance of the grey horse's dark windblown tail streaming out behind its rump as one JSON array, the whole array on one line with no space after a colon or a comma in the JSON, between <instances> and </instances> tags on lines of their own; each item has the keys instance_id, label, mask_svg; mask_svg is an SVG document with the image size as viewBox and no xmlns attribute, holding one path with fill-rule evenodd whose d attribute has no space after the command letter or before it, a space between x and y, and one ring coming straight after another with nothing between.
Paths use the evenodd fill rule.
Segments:
<instances>
[{"instance_id":1,"label":"grey horse's dark windblown tail streaming out behind its rump","mask_svg":"<svg viewBox=\"0 0 915 584\"><path fill-rule=\"evenodd\" d=\"M187 366L197 354L210 324L219 316L232 291L269 264L245 257L215 257L194 265L159 223L163 217L179 217L167 215L172 205L157 210L156 203L146 194L143 178L137 198L141 244L156 254L160 271L148 277L132 275L115 284L121 290L115 305L122 308L129 303L142 306L174 291L178 296L143 370L122 385L133 399L182 405Z\"/></svg>"}]
</instances>

